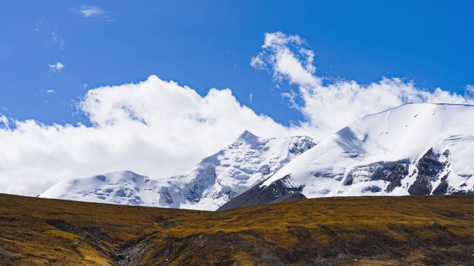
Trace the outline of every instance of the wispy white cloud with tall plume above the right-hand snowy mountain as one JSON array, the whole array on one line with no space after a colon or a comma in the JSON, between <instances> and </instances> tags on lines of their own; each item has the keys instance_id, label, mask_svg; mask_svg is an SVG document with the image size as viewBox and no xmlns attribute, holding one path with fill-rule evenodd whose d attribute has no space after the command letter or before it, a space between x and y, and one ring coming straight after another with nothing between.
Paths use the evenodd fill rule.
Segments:
<instances>
[{"instance_id":1,"label":"wispy white cloud with tall plume above the right-hand snowy mountain","mask_svg":"<svg viewBox=\"0 0 474 266\"><path fill-rule=\"evenodd\" d=\"M313 65L314 53L304 48L304 43L297 35L266 33L262 50L250 65L270 71L277 82L286 81L298 87L298 91L283 95L306 117L299 126L319 138L359 117L407 102L473 103L473 99L441 88L434 91L416 88L413 82L400 78L383 77L380 82L368 85L352 80L324 84Z\"/></svg>"}]
</instances>

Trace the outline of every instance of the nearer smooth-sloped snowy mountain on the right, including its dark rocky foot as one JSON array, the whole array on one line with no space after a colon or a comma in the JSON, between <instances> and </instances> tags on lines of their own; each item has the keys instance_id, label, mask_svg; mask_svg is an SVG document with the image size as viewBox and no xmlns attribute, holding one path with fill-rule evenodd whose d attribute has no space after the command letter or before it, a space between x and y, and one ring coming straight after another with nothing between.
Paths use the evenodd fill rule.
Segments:
<instances>
[{"instance_id":1,"label":"nearer smooth-sloped snowy mountain on the right, including its dark rocky foot","mask_svg":"<svg viewBox=\"0 0 474 266\"><path fill-rule=\"evenodd\" d=\"M405 104L319 142L220 209L307 198L474 193L474 106Z\"/></svg>"}]
</instances>

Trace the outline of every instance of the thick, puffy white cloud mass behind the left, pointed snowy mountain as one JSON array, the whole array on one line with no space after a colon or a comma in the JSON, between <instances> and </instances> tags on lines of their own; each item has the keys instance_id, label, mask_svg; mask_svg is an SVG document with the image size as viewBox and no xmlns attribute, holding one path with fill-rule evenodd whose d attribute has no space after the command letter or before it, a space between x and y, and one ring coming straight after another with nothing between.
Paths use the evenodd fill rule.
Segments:
<instances>
[{"instance_id":1,"label":"thick, puffy white cloud mass behind the left, pointed snowy mountain","mask_svg":"<svg viewBox=\"0 0 474 266\"><path fill-rule=\"evenodd\" d=\"M132 170L152 178L184 173L245 129L297 132L241 105L229 89L204 97L156 76L91 89L78 104L91 126L0 117L0 192L37 195L64 178Z\"/></svg>"}]
</instances>

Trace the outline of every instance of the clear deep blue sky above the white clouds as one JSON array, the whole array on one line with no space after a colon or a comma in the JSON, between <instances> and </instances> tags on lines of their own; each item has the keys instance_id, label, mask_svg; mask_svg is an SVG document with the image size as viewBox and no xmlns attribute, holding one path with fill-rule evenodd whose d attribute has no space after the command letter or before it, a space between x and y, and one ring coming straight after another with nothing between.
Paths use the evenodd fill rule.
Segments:
<instances>
[{"instance_id":1,"label":"clear deep blue sky above the white clouds","mask_svg":"<svg viewBox=\"0 0 474 266\"><path fill-rule=\"evenodd\" d=\"M276 31L304 38L328 81L404 77L463 93L474 84L474 3L412 2L10 1L0 11L0 112L87 124L74 104L87 89L158 75L201 95L231 88L288 125L302 116L281 97L295 84L277 88L272 73L249 65ZM84 6L103 13L85 17ZM64 68L51 72L57 62Z\"/></svg>"}]
</instances>

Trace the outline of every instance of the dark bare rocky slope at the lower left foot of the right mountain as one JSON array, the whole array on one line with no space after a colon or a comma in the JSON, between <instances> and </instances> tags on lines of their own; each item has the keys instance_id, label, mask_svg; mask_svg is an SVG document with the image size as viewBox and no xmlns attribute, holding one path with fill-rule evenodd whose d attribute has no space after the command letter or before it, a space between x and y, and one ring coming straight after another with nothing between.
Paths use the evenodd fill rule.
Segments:
<instances>
[{"instance_id":1,"label":"dark bare rocky slope at the lower left foot of the right mountain","mask_svg":"<svg viewBox=\"0 0 474 266\"><path fill-rule=\"evenodd\" d=\"M261 205L270 203L282 196L285 196L290 193L297 193L300 192L304 186L293 187L291 184L291 176L286 175L284 178L281 178L275 182L272 182L270 186L263 186L262 181L256 184L252 189L245 191L244 193L236 196L225 205L222 205L218 211L225 211L227 209L235 209L238 207L245 207L245 206L252 206L252 205ZM291 198L288 196L288 198ZM285 200L285 198L283 198Z\"/></svg>"}]
</instances>

